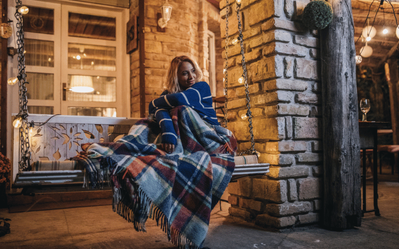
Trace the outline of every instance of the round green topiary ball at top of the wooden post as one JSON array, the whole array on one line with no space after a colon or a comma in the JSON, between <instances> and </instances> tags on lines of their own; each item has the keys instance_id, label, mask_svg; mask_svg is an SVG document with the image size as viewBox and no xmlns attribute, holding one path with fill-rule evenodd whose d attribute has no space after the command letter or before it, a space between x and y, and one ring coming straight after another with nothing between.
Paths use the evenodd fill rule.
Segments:
<instances>
[{"instance_id":1,"label":"round green topiary ball at top of the wooden post","mask_svg":"<svg viewBox=\"0 0 399 249\"><path fill-rule=\"evenodd\" d=\"M325 0L313 0L306 4L302 22L310 29L323 29L333 20L333 7Z\"/></svg>"}]
</instances>

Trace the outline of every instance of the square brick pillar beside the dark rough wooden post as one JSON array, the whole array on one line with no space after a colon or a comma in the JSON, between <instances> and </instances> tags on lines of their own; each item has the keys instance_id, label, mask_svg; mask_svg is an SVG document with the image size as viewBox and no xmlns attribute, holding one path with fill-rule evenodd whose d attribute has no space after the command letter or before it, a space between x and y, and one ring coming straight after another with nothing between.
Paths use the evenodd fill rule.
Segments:
<instances>
[{"instance_id":1,"label":"square brick pillar beside the dark rough wooden post","mask_svg":"<svg viewBox=\"0 0 399 249\"><path fill-rule=\"evenodd\" d=\"M241 21L255 148L267 176L230 183L232 216L260 226L286 228L319 220L322 180L319 38L298 15L308 1L242 0ZM236 4L229 12L229 40L237 37ZM220 26L225 39L225 23ZM224 44L224 40L222 41ZM230 43L231 44L231 43ZM240 47L229 47L228 128L239 150L250 147Z\"/></svg>"}]
</instances>

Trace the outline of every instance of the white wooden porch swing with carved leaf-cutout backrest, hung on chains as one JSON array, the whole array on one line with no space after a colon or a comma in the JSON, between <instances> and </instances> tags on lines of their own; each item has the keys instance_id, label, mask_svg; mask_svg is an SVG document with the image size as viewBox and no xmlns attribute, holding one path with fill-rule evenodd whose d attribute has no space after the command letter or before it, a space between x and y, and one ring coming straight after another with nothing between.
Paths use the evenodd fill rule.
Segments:
<instances>
[{"instance_id":1,"label":"white wooden porch swing with carved leaf-cutout backrest, hung on chains","mask_svg":"<svg viewBox=\"0 0 399 249\"><path fill-rule=\"evenodd\" d=\"M21 5L20 0L16 0L17 5ZM228 0L226 0L228 6ZM237 0L237 19L238 19L238 40L241 46L242 56L242 69L243 74L240 80L244 83L246 100L247 100L247 113L249 122L249 133L251 140L251 147L247 151L241 152L238 156L234 157L236 163L234 172L232 173L231 181L244 176L264 175L269 172L269 163L258 163L258 152L254 148L254 138L252 132L252 114L250 110L250 99L247 84L247 73L245 68L245 57L243 50L243 36L241 30L241 21L239 17L240 1ZM13 142L14 151L13 158L18 158L18 173L13 173L15 179L11 186L13 188L23 188L22 193L26 192L28 188L47 188L47 187L65 187L65 186L84 186L85 183L85 170L77 168L75 161L63 162L69 157L75 156L78 153L80 144L87 142L110 142L116 138L127 134L130 127L135 124L138 119L127 118L104 118L104 117L78 117L78 116L45 116L45 115L28 115L27 113L27 98L25 82L25 67L24 67L24 54L23 54L23 29L21 14L16 11L15 16L18 20L17 31L17 44L18 44L18 86L19 86L19 113L15 117L15 121L20 123L19 132L14 129L14 137L18 137L18 142ZM225 57L225 91L224 91L224 118L221 123L227 127L227 67L228 67L228 11L226 11L226 57ZM51 122L50 122L51 120ZM46 124L46 125L45 125ZM34 135L29 134L30 130L34 131ZM54 133L53 137L43 136L46 129ZM35 148L30 147L29 136L42 137ZM69 143L58 143L63 146L63 149L53 148L54 153L49 154L47 151L47 158L54 157L55 161L49 160L44 167L42 161L37 160L35 165L31 166L32 152L35 153L40 149L40 144L48 146L46 139L70 138L73 140ZM62 141L61 139L59 139ZM18 145L19 144L19 145ZM69 148L68 148L69 146ZM74 149L76 148L76 149ZM42 148L44 150L44 148ZM19 151L19 154L18 154ZM69 151L69 152L68 152ZM60 153L61 152L61 153ZM73 152L75 154L70 154ZM69 153L69 154L68 154ZM244 155L246 153L246 155ZM68 155L68 156L67 156ZM40 158L46 158L46 154ZM56 158L57 157L57 158ZM38 157L39 158L39 157ZM38 159L36 158L36 159ZM15 160L13 160L15 161ZM61 165L62 164L62 165ZM41 168L40 168L41 167ZM13 167L14 168L14 167ZM15 178L14 178L15 177Z\"/></svg>"}]
</instances>

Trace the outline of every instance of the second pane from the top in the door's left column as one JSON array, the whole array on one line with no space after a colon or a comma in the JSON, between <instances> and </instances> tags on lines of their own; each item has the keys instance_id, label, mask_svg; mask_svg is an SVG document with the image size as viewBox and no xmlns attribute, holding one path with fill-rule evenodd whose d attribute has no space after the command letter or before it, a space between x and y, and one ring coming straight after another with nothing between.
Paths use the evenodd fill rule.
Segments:
<instances>
[{"instance_id":1,"label":"second pane from the top in the door's left column","mask_svg":"<svg viewBox=\"0 0 399 249\"><path fill-rule=\"evenodd\" d=\"M54 42L24 39L25 65L54 67Z\"/></svg>"}]
</instances>

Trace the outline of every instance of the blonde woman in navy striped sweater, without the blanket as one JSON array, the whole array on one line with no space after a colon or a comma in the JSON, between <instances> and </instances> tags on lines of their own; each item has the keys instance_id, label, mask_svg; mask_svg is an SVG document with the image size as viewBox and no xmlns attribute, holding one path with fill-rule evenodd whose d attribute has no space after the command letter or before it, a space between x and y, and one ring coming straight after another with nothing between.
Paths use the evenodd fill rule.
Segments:
<instances>
[{"instance_id":1,"label":"blonde woman in navy striped sweater, without the blanket","mask_svg":"<svg viewBox=\"0 0 399 249\"><path fill-rule=\"evenodd\" d=\"M209 85L201 82L203 74L197 62L188 56L175 57L168 70L165 91L150 102L149 113L154 114L162 129L162 149L175 150L177 135L169 111L177 106L188 106L209 124L219 125L212 107Z\"/></svg>"}]
</instances>

